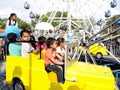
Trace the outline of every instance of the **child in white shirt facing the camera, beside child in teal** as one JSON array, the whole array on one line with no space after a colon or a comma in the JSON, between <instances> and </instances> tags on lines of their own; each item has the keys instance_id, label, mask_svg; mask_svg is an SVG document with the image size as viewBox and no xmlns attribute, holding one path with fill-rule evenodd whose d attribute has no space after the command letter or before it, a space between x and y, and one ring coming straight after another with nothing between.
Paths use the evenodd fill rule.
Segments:
<instances>
[{"instance_id":1,"label":"child in white shirt facing the camera, beside child in teal","mask_svg":"<svg viewBox=\"0 0 120 90\"><path fill-rule=\"evenodd\" d=\"M30 32L28 30L22 30L21 33L21 40L22 41L30 41ZM29 53L30 52L33 52L35 54L37 54L39 51L34 49L32 47L32 45L28 42L24 42L22 43L22 46L21 46L21 55L23 57L29 57Z\"/></svg>"}]
</instances>

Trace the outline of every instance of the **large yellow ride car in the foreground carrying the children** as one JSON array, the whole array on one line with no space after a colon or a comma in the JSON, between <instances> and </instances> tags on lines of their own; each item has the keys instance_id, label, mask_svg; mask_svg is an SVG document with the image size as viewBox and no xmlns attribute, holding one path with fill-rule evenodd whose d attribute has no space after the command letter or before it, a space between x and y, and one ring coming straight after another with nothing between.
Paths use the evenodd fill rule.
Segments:
<instances>
[{"instance_id":1,"label":"large yellow ride car in the foreground carrying the children","mask_svg":"<svg viewBox=\"0 0 120 90\"><path fill-rule=\"evenodd\" d=\"M13 90L118 90L110 68L77 60L65 61L64 78L64 84L58 84L39 54L6 56L6 82Z\"/></svg>"}]
</instances>

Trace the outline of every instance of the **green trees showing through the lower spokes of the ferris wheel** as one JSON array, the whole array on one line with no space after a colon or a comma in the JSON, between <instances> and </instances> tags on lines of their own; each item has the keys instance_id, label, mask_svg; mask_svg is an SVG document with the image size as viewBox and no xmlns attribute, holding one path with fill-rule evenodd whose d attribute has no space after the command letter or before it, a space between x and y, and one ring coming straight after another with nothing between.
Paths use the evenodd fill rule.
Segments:
<instances>
[{"instance_id":1,"label":"green trees showing through the lower spokes of the ferris wheel","mask_svg":"<svg viewBox=\"0 0 120 90\"><path fill-rule=\"evenodd\" d=\"M55 16L54 16L54 14L55 14ZM39 16L39 17L36 18L37 16ZM54 16L54 17L51 17L51 16ZM68 12L60 12L60 11L58 11L57 13L56 12L47 12L46 14L42 15L41 18L40 18L40 15L36 14L35 18L31 20L31 25L35 27L36 21L37 22L42 21L42 22L51 23L54 27L56 27L61 23L61 21L63 22L65 20L67 20L67 16L68 16ZM61 20L59 20L59 19L61 19ZM76 18L73 17L73 16L71 16L71 19L72 19L73 22L76 22L76 24L79 25L80 27L84 27L84 23L83 23L84 19L76 20ZM51 20L52 20L52 22L51 22ZM95 23L95 19L93 17L90 17L89 20L92 24ZM79 21L82 21L82 22L79 22ZM87 22L89 22L89 21L87 21ZM73 25L71 26L71 28L73 30L75 29L75 27ZM60 29L66 30L67 29L67 23L64 23L63 25L60 25Z\"/></svg>"}]
</instances>

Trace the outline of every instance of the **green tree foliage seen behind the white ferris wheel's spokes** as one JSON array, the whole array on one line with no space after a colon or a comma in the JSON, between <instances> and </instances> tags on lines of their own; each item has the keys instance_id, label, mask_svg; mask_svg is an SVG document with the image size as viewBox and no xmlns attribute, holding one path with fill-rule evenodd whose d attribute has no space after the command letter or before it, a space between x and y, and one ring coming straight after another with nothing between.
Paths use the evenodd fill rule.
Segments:
<instances>
[{"instance_id":1,"label":"green tree foliage seen behind the white ferris wheel's spokes","mask_svg":"<svg viewBox=\"0 0 120 90\"><path fill-rule=\"evenodd\" d=\"M55 12L53 12L53 13L55 13ZM48 13L42 15L41 18L37 18L37 20L40 20L41 22L50 22L49 17L51 17L51 14L52 14L52 12L48 12ZM54 27L58 26L58 25L59 25L58 18L62 17L62 18L61 18L62 20L66 20L66 19L67 19L67 15L68 15L68 12L58 11L58 12L56 13L56 15L55 15L55 18L54 18L53 21L51 22L51 24L52 24ZM74 21L74 22L77 21L73 16L71 16L71 18L72 18L72 21ZM84 21L84 19L79 19L79 21ZM91 21L92 24L95 23L95 19L94 19L93 17L90 17L90 21ZM88 21L87 21L87 22L88 22ZM31 21L31 24L32 24L32 26L35 26L35 24L36 24L35 18ZM78 24L78 25L81 25L80 27L84 26L84 23L83 23L83 22L80 22L80 23L77 22L77 24ZM66 24L60 26L60 29L65 30L66 28L67 28ZM71 28L72 28L72 29L75 29L74 26L71 26Z\"/></svg>"}]
</instances>

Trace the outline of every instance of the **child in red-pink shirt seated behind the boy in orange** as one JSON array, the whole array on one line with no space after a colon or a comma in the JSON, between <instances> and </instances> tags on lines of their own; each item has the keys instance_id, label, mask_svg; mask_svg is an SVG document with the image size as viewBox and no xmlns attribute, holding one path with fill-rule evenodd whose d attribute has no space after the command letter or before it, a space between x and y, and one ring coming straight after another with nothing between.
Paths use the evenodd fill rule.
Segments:
<instances>
[{"instance_id":1,"label":"child in red-pink shirt seated behind the boy in orange","mask_svg":"<svg viewBox=\"0 0 120 90\"><path fill-rule=\"evenodd\" d=\"M40 49L40 47L41 47L41 50L43 50L43 49L47 50L46 37L44 37L44 36L38 37L38 42L39 42L39 43L36 43L36 47L37 47L38 49Z\"/></svg>"}]
</instances>

